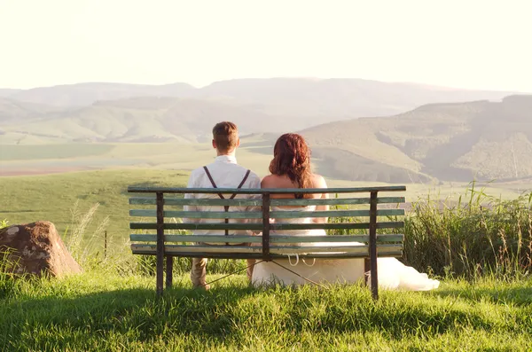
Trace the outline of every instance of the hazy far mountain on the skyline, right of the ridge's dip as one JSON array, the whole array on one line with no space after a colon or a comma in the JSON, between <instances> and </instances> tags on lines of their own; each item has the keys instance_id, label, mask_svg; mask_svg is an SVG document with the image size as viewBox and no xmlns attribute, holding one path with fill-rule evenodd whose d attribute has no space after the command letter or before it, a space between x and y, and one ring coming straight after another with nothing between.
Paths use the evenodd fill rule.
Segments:
<instances>
[{"instance_id":1,"label":"hazy far mountain on the skyline, right of the ridge's dip","mask_svg":"<svg viewBox=\"0 0 532 352\"><path fill-rule=\"evenodd\" d=\"M241 79L215 82L200 96L234 98L269 113L306 115L323 122L403 113L429 103L499 100L511 92L455 90L361 79Z\"/></svg>"}]
</instances>

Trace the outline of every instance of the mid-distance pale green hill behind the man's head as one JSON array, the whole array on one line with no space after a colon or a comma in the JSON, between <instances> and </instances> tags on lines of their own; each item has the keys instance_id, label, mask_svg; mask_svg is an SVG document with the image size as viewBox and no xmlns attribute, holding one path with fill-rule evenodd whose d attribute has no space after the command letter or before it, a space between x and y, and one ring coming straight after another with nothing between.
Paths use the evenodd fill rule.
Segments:
<instances>
[{"instance_id":1,"label":"mid-distance pale green hill behind the man's head","mask_svg":"<svg viewBox=\"0 0 532 352\"><path fill-rule=\"evenodd\" d=\"M13 108L12 111L19 110ZM13 140L27 143L27 136L54 138L63 143L198 143L210 139L212 126L224 120L236 122L242 134L278 132L304 125L298 119L286 120L281 116L256 112L246 106L193 98L145 97L99 101L92 106L48 113L45 117L37 114L37 117L30 119L21 113L14 116L6 121L0 115L0 128L4 131L4 136L0 136L0 144ZM13 123L13 120L20 123Z\"/></svg>"}]
</instances>

